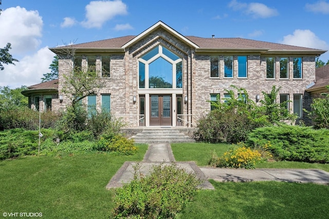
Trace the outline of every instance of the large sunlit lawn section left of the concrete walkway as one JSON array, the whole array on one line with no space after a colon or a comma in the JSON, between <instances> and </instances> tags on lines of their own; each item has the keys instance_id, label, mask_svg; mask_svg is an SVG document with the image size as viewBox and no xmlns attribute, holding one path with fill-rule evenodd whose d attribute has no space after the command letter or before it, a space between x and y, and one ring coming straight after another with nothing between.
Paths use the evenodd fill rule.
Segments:
<instances>
[{"instance_id":1,"label":"large sunlit lawn section left of the concrete walkway","mask_svg":"<svg viewBox=\"0 0 329 219\"><path fill-rule=\"evenodd\" d=\"M0 213L42 212L43 218L106 218L113 206L114 190L105 189L124 161L136 155L106 153L74 156L28 156L0 161Z\"/></svg>"}]
</instances>

